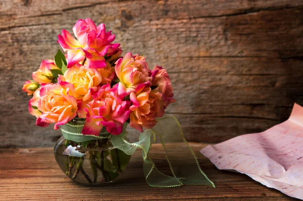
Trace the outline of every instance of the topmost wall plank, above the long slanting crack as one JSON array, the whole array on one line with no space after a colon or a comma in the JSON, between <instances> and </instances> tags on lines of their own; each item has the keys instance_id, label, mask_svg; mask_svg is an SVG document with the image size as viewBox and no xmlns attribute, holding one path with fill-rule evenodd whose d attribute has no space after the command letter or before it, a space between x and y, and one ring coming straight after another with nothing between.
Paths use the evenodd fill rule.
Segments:
<instances>
[{"instance_id":1,"label":"topmost wall plank, above the long slanting crack","mask_svg":"<svg viewBox=\"0 0 303 201\"><path fill-rule=\"evenodd\" d=\"M203 17L222 17L231 15L243 15L259 11L279 10L283 8L295 8L302 6L301 1L224 1L215 0L169 0L169 1L106 1L89 0L64 2L45 1L2 1L0 7L0 28L31 26L36 24L49 24L60 22L64 15L71 20L68 13L73 11L73 16L79 13L74 11L85 10L89 16L102 21L113 20L117 17L130 17L134 21L159 20L159 19L191 19ZM131 9L130 9L131 8ZM148 12L146 12L148 9ZM100 12L102 11L102 12ZM135 11L135 12L133 12ZM80 12L81 13L81 12ZM130 15L131 14L131 15ZM82 15L82 14L81 14ZM82 15L83 16L83 15ZM87 16L85 16L87 17ZM80 16L78 18L81 18ZM83 18L83 17L82 17ZM77 19L76 19L77 20ZM74 23L74 22L72 22Z\"/></svg>"}]
</instances>

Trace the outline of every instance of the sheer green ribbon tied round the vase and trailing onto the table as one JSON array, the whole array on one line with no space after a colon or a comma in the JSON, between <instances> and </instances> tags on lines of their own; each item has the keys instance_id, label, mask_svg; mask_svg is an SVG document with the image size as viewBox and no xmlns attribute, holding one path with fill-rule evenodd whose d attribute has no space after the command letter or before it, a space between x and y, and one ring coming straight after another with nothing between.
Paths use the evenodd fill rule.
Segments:
<instances>
[{"instance_id":1,"label":"sheer green ribbon tied round the vase and trailing onto the table","mask_svg":"<svg viewBox=\"0 0 303 201\"><path fill-rule=\"evenodd\" d=\"M99 136L90 136L81 133L84 126L84 121L77 121L78 124L67 123L61 125L62 135L65 139L78 143L84 143L91 140L99 140L104 138L111 138L112 144L119 150L122 150L127 155L132 155L137 148L142 150L143 158L143 172L146 182L153 187L175 187L183 184L188 185L210 185L215 187L215 184L207 177L207 175L201 170L194 152L189 147L185 140L184 133L182 131L179 121L174 116L163 116L158 118L157 125L154 128L146 129L143 132L139 132L139 141L130 143L126 140L128 131L126 124L123 132L118 136L110 135L106 130L102 130ZM79 123L80 122L80 123ZM135 131L134 129L132 131ZM156 167L156 164L151 160L149 156L149 150L153 149L151 146L155 142L161 142L163 146L163 152L165 153L168 166L171 171L171 176L163 174ZM167 149L168 143L185 143L188 149L183 149L180 156L177 157L174 154L174 149ZM177 144L179 145L179 144ZM182 157L186 158L186 164L180 166ZM190 159L188 159L190 157ZM182 160L183 161L183 160Z\"/></svg>"}]
</instances>

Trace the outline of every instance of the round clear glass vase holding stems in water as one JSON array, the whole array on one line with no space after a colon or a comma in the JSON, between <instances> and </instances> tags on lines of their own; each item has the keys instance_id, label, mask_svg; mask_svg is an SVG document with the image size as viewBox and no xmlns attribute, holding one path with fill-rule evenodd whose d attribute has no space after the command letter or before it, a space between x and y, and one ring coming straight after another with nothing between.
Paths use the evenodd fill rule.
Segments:
<instances>
[{"instance_id":1,"label":"round clear glass vase holding stems in water","mask_svg":"<svg viewBox=\"0 0 303 201\"><path fill-rule=\"evenodd\" d=\"M64 127L64 131L70 125L79 128L84 124L83 120L73 120ZM83 185L109 183L126 168L131 156L116 149L112 145L111 134L105 132L100 133L99 139L84 142L67 140L64 136L57 141L54 148L56 161L74 182Z\"/></svg>"}]
</instances>

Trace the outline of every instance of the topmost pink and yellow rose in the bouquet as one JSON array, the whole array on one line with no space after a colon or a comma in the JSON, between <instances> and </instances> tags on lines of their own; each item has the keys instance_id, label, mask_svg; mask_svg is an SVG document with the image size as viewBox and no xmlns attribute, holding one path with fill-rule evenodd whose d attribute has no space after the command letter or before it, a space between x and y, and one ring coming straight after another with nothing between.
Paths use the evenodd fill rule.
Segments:
<instances>
[{"instance_id":1,"label":"topmost pink and yellow rose in the bouquet","mask_svg":"<svg viewBox=\"0 0 303 201\"><path fill-rule=\"evenodd\" d=\"M116 53L120 46L118 43L112 43L115 35L111 34L111 31L106 32L104 24L96 27L89 18L78 20L73 32L77 39L66 30L62 30L62 35L58 35L58 42L63 50L67 51L67 68L79 62L93 69L104 68L104 56ZM83 63L85 58L86 62Z\"/></svg>"}]
</instances>

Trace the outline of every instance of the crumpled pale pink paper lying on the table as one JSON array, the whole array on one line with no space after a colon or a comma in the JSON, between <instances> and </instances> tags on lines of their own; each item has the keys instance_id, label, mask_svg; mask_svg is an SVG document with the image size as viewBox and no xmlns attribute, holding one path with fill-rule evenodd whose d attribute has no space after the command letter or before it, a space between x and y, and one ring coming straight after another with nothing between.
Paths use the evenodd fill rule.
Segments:
<instances>
[{"instance_id":1,"label":"crumpled pale pink paper lying on the table","mask_svg":"<svg viewBox=\"0 0 303 201\"><path fill-rule=\"evenodd\" d=\"M295 198L303 199L303 107L288 120L260 133L238 136L200 152L220 170L236 170Z\"/></svg>"}]
</instances>

